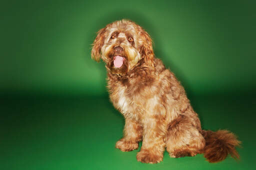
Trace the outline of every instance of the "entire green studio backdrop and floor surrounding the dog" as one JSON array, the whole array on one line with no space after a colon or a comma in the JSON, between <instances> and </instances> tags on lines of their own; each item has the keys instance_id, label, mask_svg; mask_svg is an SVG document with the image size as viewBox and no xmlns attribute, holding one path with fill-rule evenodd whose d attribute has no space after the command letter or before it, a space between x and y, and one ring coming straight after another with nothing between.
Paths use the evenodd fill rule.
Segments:
<instances>
[{"instance_id":1,"label":"entire green studio backdrop and floor surrounding the dog","mask_svg":"<svg viewBox=\"0 0 256 170\"><path fill-rule=\"evenodd\" d=\"M0 169L255 169L256 12L243 0L0 2ZM240 161L136 161L90 58L96 31L128 18L181 81L204 129L233 131ZM141 145L141 143L140 143Z\"/></svg>"}]
</instances>

